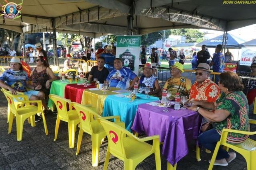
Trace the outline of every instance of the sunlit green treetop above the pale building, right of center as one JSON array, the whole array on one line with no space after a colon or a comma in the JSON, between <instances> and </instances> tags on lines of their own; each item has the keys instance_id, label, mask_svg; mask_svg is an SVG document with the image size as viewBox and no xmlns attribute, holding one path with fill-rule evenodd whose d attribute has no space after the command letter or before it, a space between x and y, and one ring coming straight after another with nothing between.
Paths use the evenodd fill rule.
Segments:
<instances>
[{"instance_id":1,"label":"sunlit green treetop above the pale building, right of center","mask_svg":"<svg viewBox=\"0 0 256 170\"><path fill-rule=\"evenodd\" d=\"M204 33L198 29L171 29L171 35L182 35L186 37L186 43L195 43L203 41Z\"/></svg>"}]
</instances>

